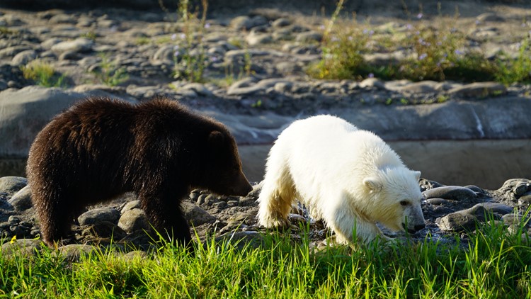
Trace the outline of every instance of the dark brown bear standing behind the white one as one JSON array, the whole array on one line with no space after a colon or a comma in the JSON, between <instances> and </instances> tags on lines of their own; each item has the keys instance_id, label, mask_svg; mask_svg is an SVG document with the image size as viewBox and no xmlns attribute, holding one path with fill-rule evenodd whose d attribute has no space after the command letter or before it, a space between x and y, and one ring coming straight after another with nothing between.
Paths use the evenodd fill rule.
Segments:
<instances>
[{"instance_id":1,"label":"dark brown bear standing behind the white one","mask_svg":"<svg viewBox=\"0 0 531 299\"><path fill-rule=\"evenodd\" d=\"M70 225L86 205L129 191L161 235L188 246L181 200L191 188L234 196L252 190L229 130L169 98L76 103L35 137L26 172L50 247L72 241Z\"/></svg>"}]
</instances>

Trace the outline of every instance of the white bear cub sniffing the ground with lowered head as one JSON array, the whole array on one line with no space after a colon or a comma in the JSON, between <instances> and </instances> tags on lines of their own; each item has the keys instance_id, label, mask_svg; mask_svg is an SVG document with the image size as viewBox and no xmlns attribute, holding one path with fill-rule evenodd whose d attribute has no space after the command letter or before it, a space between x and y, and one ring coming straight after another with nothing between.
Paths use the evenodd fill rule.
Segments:
<instances>
[{"instance_id":1,"label":"white bear cub sniffing the ground with lowered head","mask_svg":"<svg viewBox=\"0 0 531 299\"><path fill-rule=\"evenodd\" d=\"M295 200L336 232L336 241L367 244L394 231L424 225L420 171L411 171L381 138L332 115L297 120L271 148L258 197L258 221L288 225ZM356 236L353 236L355 232Z\"/></svg>"}]
</instances>

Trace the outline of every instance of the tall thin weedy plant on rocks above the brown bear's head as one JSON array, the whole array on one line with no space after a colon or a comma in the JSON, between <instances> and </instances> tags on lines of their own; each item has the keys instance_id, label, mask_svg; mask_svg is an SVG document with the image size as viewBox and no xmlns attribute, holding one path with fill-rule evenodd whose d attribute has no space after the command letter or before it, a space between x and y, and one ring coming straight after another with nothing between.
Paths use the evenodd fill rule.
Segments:
<instances>
[{"instance_id":1,"label":"tall thin weedy plant on rocks above the brown bear's head","mask_svg":"<svg viewBox=\"0 0 531 299\"><path fill-rule=\"evenodd\" d=\"M202 44L202 37L205 29L210 27L206 23L208 1L201 0L202 13L198 18L198 13L191 12L189 0L181 0L178 5L178 13L183 22L182 33L174 33L171 40L177 41L174 47L173 77L188 81L199 82L203 80L205 68L209 63Z\"/></svg>"}]
</instances>

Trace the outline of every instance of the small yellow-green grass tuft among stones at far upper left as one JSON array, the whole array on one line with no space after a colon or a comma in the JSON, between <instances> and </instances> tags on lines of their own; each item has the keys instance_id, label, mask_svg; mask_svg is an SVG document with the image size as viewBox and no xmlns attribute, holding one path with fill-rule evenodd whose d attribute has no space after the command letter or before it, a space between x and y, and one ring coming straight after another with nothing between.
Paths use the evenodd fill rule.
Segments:
<instances>
[{"instance_id":1,"label":"small yellow-green grass tuft among stones at far upper left","mask_svg":"<svg viewBox=\"0 0 531 299\"><path fill-rule=\"evenodd\" d=\"M21 67L24 79L29 79L35 84L45 87L62 87L64 86L63 74L55 71L52 64L42 62L40 60L33 60Z\"/></svg>"}]
</instances>

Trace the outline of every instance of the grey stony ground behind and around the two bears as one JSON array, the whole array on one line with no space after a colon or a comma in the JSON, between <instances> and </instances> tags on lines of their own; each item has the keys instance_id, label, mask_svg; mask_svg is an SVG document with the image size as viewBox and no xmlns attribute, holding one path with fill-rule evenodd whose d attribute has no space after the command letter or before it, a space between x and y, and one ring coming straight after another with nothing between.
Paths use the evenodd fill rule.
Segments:
<instances>
[{"instance_id":1,"label":"grey stony ground behind and around the two bears","mask_svg":"<svg viewBox=\"0 0 531 299\"><path fill-rule=\"evenodd\" d=\"M435 6L426 5L421 18L416 17L420 12L416 1L404 3L409 4L409 11L404 7L358 7L358 23L370 24L376 34L391 35L412 22L455 22L456 28L467 33L469 46L481 47L489 57L496 57L501 50L515 55L518 43L531 34L531 8L518 3L458 1L452 2L452 7L443 5L440 13ZM452 18L456 11L453 4L459 6L462 16L457 21ZM408 12L413 16L408 16ZM378 111L386 106L403 106L399 109L406 111L421 106L418 104L442 100L459 106L476 106L477 98L491 102L513 101L511 106L518 106L516 103L531 98L531 86L525 84L310 79L305 68L310 62L319 60L319 40L328 19L320 13L302 13L292 8L287 11L258 7L229 13L210 11L204 35L195 35L196 40L202 38L201 44L207 54L205 80L191 83L175 77L174 71L182 67L185 38L184 24L176 21L176 13L161 9L0 9L0 98L4 95L4 98L18 99L21 94L27 96L35 92L100 94L130 101L144 101L154 95L171 96L199 111L220 113L227 123L234 121L231 115L238 115L239 123L252 123L253 128L260 129L259 134L256 130L241 130L246 135L236 135L240 144L271 142L282 125L301 115L331 111L341 114L367 107ZM366 59L381 62L396 56L397 53L382 49L382 52L367 55ZM42 91L31 86L33 82L23 77L21 67L33 60L47 62L65 75L62 91ZM105 84L109 82L105 74L117 69L124 70L127 78L115 82L116 85ZM63 106L67 105L63 103ZM510 118L520 122L528 112L520 114L517 112ZM473 115L462 119L474 119ZM444 121L452 123L447 118ZM498 125L507 123L492 121ZM484 137L484 130L477 128L481 123L477 123L472 125L473 137ZM421 130L421 125L415 127ZM515 132L514 128L516 125L509 130L494 131L510 134ZM431 134L435 132L430 131ZM382 127L382 132L378 133L387 132L389 126ZM485 132L489 134L488 130ZM0 135L2 133L0 130ZM449 134L452 133L450 130ZM452 138L444 134L436 137ZM518 134L513 137L529 137ZM429 181L421 183L424 189L438 186ZM4 241L15 235L18 239L38 235L38 223L28 197L30 191L24 186L23 178L0 178L0 232L6 238ZM529 205L531 188L527 180L521 179L508 181L497 191L474 186L433 190L442 193L433 195L426 191L423 210L428 227L413 237L422 238L428 232L444 235L446 231L458 232L462 227L472 229L474 220L484 220L484 210L492 210L497 220L503 220L510 227L513 212L523 213ZM258 238L256 230L261 229L255 226L255 199L252 194L245 198L219 198L205 191L193 191L185 209L201 239L214 232L220 236L234 231L241 231L243 237ZM80 243L106 244L113 231L115 239L125 239L142 247L147 243L145 235L138 233L147 227L143 219L134 196L128 196L83 215L75 231ZM293 216L294 222L301 219L304 217ZM312 223L317 244L324 239L325 230L322 223Z\"/></svg>"}]
</instances>

